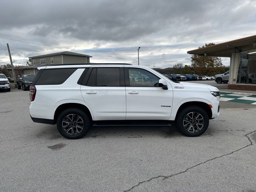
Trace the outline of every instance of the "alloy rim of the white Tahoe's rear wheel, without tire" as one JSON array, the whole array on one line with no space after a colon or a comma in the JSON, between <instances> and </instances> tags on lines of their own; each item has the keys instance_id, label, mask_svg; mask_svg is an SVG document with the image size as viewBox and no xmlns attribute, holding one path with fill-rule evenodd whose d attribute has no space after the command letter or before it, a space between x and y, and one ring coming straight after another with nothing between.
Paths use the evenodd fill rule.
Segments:
<instances>
[{"instance_id":1,"label":"alloy rim of the white Tahoe's rear wheel, without tire","mask_svg":"<svg viewBox=\"0 0 256 192\"><path fill-rule=\"evenodd\" d=\"M70 135L79 134L84 128L84 121L78 114L69 114L62 120L62 129Z\"/></svg>"}]
</instances>

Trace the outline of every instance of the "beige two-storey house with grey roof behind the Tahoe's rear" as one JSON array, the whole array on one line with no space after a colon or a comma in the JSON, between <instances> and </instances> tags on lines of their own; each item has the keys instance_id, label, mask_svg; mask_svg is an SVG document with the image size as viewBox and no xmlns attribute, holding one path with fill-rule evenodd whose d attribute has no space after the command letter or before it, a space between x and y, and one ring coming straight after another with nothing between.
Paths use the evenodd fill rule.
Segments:
<instances>
[{"instance_id":1,"label":"beige two-storey house with grey roof behind the Tahoe's rear","mask_svg":"<svg viewBox=\"0 0 256 192\"><path fill-rule=\"evenodd\" d=\"M90 63L90 57L92 56L69 51L29 57L32 66L23 67L23 74L37 74L39 71L38 67L47 65Z\"/></svg>"}]
</instances>

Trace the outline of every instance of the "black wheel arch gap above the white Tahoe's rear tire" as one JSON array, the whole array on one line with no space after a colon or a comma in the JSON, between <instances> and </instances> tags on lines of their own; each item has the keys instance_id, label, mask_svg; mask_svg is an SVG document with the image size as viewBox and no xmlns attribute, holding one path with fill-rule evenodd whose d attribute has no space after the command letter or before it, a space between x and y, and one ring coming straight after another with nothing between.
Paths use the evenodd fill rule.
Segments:
<instances>
[{"instance_id":1,"label":"black wheel arch gap above the white Tahoe's rear tire","mask_svg":"<svg viewBox=\"0 0 256 192\"><path fill-rule=\"evenodd\" d=\"M83 104L80 104L80 103L64 103L64 104L61 104L60 106L58 106L56 108L55 112L54 112L54 123L55 124L57 122L59 114L63 110L68 109L68 108L79 108L79 109L82 109L82 110L84 110L84 112L86 112L86 114L88 115L90 120L91 121L93 120L93 116L92 116L90 110L86 106L84 106Z\"/></svg>"}]
</instances>

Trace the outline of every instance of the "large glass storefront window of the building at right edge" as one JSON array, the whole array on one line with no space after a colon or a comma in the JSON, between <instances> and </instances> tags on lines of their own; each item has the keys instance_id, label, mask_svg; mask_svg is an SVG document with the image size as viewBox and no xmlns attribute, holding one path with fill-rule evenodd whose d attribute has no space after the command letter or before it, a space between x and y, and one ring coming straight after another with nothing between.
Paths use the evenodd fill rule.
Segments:
<instances>
[{"instance_id":1,"label":"large glass storefront window of the building at right edge","mask_svg":"<svg viewBox=\"0 0 256 192\"><path fill-rule=\"evenodd\" d=\"M256 49L240 53L236 83L256 84Z\"/></svg>"}]
</instances>

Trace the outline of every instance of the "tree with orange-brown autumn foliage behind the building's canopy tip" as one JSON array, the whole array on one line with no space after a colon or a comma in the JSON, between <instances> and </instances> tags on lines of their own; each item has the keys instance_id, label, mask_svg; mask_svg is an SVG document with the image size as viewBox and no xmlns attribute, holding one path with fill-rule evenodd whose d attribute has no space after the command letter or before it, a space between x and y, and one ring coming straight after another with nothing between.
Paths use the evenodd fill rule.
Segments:
<instances>
[{"instance_id":1,"label":"tree with orange-brown autumn foliage behind the building's canopy tip","mask_svg":"<svg viewBox=\"0 0 256 192\"><path fill-rule=\"evenodd\" d=\"M205 46L199 47L199 49L212 45L214 45L214 43L208 43L205 44ZM221 58L216 56L193 55L191 62L194 72L198 75L214 76L220 73L224 68Z\"/></svg>"}]
</instances>

